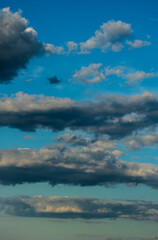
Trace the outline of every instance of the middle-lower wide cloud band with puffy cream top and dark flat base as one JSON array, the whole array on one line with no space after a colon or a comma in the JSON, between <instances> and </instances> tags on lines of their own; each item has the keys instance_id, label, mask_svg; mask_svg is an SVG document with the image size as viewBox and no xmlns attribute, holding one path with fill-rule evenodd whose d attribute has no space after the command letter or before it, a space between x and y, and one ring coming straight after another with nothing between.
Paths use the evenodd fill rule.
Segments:
<instances>
[{"instance_id":1,"label":"middle-lower wide cloud band with puffy cream top and dark flat base","mask_svg":"<svg viewBox=\"0 0 158 240\"><path fill-rule=\"evenodd\" d=\"M61 142L61 140L60 140ZM80 186L144 184L158 188L158 167L152 164L126 162L123 153L107 139L74 146L54 144L35 149L0 150L0 183L49 182Z\"/></svg>"}]
</instances>

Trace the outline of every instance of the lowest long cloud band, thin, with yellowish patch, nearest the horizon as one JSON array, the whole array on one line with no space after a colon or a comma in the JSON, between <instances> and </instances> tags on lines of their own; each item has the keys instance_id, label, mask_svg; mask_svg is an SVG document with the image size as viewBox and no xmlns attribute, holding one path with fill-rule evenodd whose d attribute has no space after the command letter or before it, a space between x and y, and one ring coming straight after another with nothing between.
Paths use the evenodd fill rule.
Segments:
<instances>
[{"instance_id":1,"label":"lowest long cloud band, thin, with yellowish patch, nearest the horizon","mask_svg":"<svg viewBox=\"0 0 158 240\"><path fill-rule=\"evenodd\" d=\"M63 219L125 218L158 221L158 204L145 201L113 202L85 197L21 196L1 197L0 208L7 215L22 217Z\"/></svg>"}]
</instances>

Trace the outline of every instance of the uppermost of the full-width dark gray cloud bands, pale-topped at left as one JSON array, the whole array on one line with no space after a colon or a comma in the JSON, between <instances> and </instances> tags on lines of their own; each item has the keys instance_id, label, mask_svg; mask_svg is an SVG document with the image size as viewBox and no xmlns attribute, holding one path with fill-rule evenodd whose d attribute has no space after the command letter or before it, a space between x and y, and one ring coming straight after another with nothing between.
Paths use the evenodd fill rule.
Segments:
<instances>
[{"instance_id":1,"label":"uppermost of the full-width dark gray cloud bands, pale-topped at left","mask_svg":"<svg viewBox=\"0 0 158 240\"><path fill-rule=\"evenodd\" d=\"M106 95L98 101L79 103L22 92L0 98L0 126L23 131L69 128L120 138L157 123L158 100L149 92L130 97Z\"/></svg>"}]
</instances>

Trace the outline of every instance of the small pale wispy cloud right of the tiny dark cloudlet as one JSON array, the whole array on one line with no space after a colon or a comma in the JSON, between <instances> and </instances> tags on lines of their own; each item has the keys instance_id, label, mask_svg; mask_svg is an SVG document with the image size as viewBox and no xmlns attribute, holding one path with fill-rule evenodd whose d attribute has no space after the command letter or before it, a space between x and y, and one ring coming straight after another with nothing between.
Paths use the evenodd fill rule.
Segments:
<instances>
[{"instance_id":1,"label":"small pale wispy cloud right of the tiny dark cloudlet","mask_svg":"<svg viewBox=\"0 0 158 240\"><path fill-rule=\"evenodd\" d=\"M88 67L81 67L81 70L77 71L72 76L74 80L80 80L83 83L98 83L105 79L103 71L100 70L101 63L91 63Z\"/></svg>"}]
</instances>

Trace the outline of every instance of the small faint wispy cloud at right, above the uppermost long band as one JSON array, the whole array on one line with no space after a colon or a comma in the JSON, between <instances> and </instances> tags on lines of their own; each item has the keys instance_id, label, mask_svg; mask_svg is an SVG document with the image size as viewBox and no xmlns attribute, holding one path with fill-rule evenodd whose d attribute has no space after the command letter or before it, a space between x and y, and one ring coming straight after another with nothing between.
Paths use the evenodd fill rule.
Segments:
<instances>
[{"instance_id":1,"label":"small faint wispy cloud at right, above the uppermost long band","mask_svg":"<svg viewBox=\"0 0 158 240\"><path fill-rule=\"evenodd\" d=\"M146 78L153 78L156 77L155 73L146 73L143 71L137 71L134 73L128 73L124 75L124 78L127 79L126 85L127 86L134 86L136 83L146 79Z\"/></svg>"}]
</instances>

